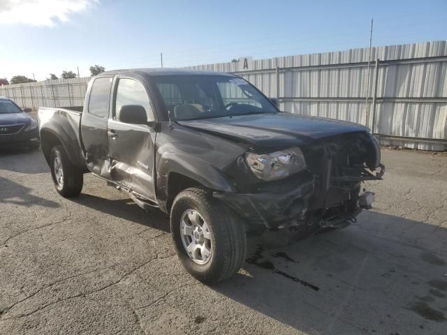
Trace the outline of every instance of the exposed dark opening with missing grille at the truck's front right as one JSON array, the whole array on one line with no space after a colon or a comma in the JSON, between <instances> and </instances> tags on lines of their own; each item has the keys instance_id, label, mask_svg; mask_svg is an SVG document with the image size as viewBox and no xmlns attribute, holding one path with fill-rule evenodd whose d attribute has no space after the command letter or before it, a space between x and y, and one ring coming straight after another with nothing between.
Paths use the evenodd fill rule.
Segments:
<instances>
[{"instance_id":1,"label":"exposed dark opening with missing grille at the truck's front right","mask_svg":"<svg viewBox=\"0 0 447 335\"><path fill-rule=\"evenodd\" d=\"M309 222L320 228L343 228L355 223L361 209L370 209L374 201L374 193L360 194L362 181L381 180L385 172L374 137L346 134L303 151L309 170L316 176L307 212Z\"/></svg>"}]
</instances>

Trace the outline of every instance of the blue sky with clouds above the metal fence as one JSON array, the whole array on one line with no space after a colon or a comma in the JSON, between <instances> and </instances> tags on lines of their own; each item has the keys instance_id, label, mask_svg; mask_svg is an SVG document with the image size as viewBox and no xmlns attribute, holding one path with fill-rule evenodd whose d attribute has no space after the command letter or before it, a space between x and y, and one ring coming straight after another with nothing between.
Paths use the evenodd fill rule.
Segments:
<instances>
[{"instance_id":1,"label":"blue sky with clouds above the metal fence","mask_svg":"<svg viewBox=\"0 0 447 335\"><path fill-rule=\"evenodd\" d=\"M34 1L34 4L33 4ZM447 0L0 0L0 77L178 67L447 39ZM37 4L36 4L37 3ZM33 7L36 6L36 7Z\"/></svg>"}]
</instances>

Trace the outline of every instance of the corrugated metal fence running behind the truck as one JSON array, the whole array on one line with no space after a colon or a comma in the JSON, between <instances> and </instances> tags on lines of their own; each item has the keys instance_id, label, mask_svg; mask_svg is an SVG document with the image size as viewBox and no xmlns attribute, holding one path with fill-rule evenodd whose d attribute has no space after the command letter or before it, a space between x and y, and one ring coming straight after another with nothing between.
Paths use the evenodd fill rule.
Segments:
<instances>
[{"instance_id":1,"label":"corrugated metal fence running behind the truck","mask_svg":"<svg viewBox=\"0 0 447 335\"><path fill-rule=\"evenodd\" d=\"M368 59L369 48L362 48L250 60L248 70L236 62L191 68L236 73L265 95L279 97L286 112L374 125L374 133L387 135L381 137L382 144L445 150L446 144L414 140L447 138L447 42L373 47L367 112ZM89 79L9 85L0 87L0 96L22 107L82 105Z\"/></svg>"}]
</instances>

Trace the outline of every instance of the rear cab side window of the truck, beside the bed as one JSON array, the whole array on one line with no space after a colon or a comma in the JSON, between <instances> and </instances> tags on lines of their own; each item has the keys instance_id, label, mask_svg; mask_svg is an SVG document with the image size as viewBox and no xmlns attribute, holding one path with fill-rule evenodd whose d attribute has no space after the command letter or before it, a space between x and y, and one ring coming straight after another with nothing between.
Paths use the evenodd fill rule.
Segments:
<instances>
[{"instance_id":1,"label":"rear cab side window of the truck, beside the bed","mask_svg":"<svg viewBox=\"0 0 447 335\"><path fill-rule=\"evenodd\" d=\"M97 117L106 117L109 110L110 89L112 87L111 77L96 78L91 85L89 108L90 114Z\"/></svg>"}]
</instances>

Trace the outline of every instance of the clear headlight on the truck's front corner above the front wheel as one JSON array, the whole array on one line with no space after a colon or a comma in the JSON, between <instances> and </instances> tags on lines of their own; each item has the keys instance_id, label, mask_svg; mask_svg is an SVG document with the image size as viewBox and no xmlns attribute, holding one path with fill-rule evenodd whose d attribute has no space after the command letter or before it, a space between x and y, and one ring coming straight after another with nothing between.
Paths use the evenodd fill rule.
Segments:
<instances>
[{"instance_id":1,"label":"clear headlight on the truck's front corner above the front wheel","mask_svg":"<svg viewBox=\"0 0 447 335\"><path fill-rule=\"evenodd\" d=\"M272 154L245 154L245 161L259 179L282 179L306 169L305 157L298 147Z\"/></svg>"}]
</instances>

